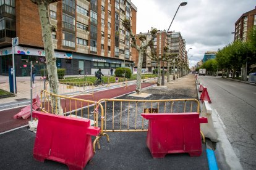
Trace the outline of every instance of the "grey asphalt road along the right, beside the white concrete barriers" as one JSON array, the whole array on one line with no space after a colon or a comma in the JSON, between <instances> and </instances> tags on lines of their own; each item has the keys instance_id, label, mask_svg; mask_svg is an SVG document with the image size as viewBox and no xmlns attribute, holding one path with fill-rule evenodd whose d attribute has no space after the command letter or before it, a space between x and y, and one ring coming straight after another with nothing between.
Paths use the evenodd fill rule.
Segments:
<instances>
[{"instance_id":1,"label":"grey asphalt road along the right, beside the white concrete barriers","mask_svg":"<svg viewBox=\"0 0 256 170\"><path fill-rule=\"evenodd\" d=\"M223 121L229 142L244 169L256 169L256 86L213 76L199 76L211 107Z\"/></svg>"}]
</instances>

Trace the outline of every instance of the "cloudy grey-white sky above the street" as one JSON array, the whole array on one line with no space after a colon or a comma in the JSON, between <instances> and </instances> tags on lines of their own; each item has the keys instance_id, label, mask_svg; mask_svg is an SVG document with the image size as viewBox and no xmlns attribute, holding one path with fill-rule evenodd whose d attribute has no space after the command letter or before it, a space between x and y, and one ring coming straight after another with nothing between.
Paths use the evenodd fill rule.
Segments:
<instances>
[{"instance_id":1,"label":"cloudy grey-white sky above the street","mask_svg":"<svg viewBox=\"0 0 256 170\"><path fill-rule=\"evenodd\" d=\"M186 0L184 0L186 1ZM174 0L132 0L137 7L137 33L145 33L153 26L168 30L181 2ZM207 51L218 49L234 39L234 23L249 10L255 9L255 0L187 0L179 7L169 31L179 31L190 49L190 66L203 59ZM192 57L191 57L192 56Z\"/></svg>"}]
</instances>

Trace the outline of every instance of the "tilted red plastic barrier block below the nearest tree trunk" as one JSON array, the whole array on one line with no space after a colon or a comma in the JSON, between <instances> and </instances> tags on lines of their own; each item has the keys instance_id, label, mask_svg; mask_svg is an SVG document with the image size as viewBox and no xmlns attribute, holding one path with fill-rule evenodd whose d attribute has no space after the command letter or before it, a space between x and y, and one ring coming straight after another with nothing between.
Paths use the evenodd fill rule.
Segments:
<instances>
[{"instance_id":1,"label":"tilted red plastic barrier block below the nearest tree trunk","mask_svg":"<svg viewBox=\"0 0 256 170\"><path fill-rule=\"evenodd\" d=\"M83 169L93 158L91 136L100 133L99 127L90 126L90 120L33 111L38 118L33 156L67 164L69 169Z\"/></svg>"}]
</instances>

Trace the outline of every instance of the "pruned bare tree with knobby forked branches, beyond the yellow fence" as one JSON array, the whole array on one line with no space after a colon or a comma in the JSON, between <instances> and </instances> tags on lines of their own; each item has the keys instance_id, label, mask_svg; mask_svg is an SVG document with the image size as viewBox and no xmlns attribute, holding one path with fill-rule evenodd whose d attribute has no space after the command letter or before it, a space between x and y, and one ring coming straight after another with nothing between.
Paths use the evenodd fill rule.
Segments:
<instances>
[{"instance_id":1,"label":"pruned bare tree with knobby forked branches, beyond the yellow fence","mask_svg":"<svg viewBox=\"0 0 256 170\"><path fill-rule=\"evenodd\" d=\"M132 44L131 46L139 52L139 61L137 64L137 83L136 83L136 92L137 94L140 94L142 91L142 84L141 84L141 76L142 76L142 60L143 60L143 55L147 55L147 47L148 46L153 46L153 40L156 38L156 33L157 30L155 28L151 28L151 40L146 42L146 36L140 36L140 41L142 41L141 46L137 45L136 38L134 36L134 33L132 33L132 26L130 25L130 20L125 19L122 22L122 25L130 34L130 38L132 39Z\"/></svg>"}]
</instances>

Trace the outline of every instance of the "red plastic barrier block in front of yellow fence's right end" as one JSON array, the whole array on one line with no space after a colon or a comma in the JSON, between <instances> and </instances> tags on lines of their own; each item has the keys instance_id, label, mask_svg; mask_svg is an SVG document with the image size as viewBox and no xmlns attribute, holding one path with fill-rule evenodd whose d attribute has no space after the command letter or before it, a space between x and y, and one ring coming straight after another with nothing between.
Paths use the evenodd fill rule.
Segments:
<instances>
[{"instance_id":1,"label":"red plastic barrier block in front of yellow fence's right end","mask_svg":"<svg viewBox=\"0 0 256 170\"><path fill-rule=\"evenodd\" d=\"M199 118L193 113L142 113L149 119L147 146L153 158L164 158L168 153L202 154L200 123L207 118Z\"/></svg>"}]
</instances>

